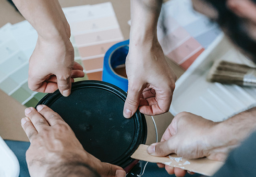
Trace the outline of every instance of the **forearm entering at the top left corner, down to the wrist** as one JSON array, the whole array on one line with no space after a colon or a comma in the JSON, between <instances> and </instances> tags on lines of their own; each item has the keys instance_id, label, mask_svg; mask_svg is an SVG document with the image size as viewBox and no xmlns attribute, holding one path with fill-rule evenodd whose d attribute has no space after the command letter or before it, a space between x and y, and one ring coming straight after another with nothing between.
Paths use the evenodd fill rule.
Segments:
<instances>
[{"instance_id":1,"label":"forearm entering at the top left corner, down to the wrist","mask_svg":"<svg viewBox=\"0 0 256 177\"><path fill-rule=\"evenodd\" d=\"M42 39L69 39L70 27L58 0L13 0L13 3Z\"/></svg>"}]
</instances>

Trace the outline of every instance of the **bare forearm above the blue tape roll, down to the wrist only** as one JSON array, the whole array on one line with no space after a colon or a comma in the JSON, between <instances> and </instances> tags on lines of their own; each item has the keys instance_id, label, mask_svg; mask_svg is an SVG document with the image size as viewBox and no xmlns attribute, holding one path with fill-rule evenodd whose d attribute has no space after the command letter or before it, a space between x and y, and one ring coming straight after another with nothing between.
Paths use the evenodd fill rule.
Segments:
<instances>
[{"instance_id":1,"label":"bare forearm above the blue tape roll, down to the wrist only","mask_svg":"<svg viewBox=\"0 0 256 177\"><path fill-rule=\"evenodd\" d=\"M162 0L131 0L130 45L157 39Z\"/></svg>"}]
</instances>

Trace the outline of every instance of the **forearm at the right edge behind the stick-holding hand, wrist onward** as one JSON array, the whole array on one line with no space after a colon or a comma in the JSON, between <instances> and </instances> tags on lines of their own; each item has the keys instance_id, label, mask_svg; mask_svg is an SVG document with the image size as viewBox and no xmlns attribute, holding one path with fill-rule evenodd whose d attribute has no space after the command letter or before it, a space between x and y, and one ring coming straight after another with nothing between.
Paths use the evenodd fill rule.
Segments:
<instances>
[{"instance_id":1,"label":"forearm at the right edge behind the stick-holding hand, wrist onward","mask_svg":"<svg viewBox=\"0 0 256 177\"><path fill-rule=\"evenodd\" d=\"M239 113L217 125L219 142L239 145L256 130L256 107Z\"/></svg>"}]
</instances>

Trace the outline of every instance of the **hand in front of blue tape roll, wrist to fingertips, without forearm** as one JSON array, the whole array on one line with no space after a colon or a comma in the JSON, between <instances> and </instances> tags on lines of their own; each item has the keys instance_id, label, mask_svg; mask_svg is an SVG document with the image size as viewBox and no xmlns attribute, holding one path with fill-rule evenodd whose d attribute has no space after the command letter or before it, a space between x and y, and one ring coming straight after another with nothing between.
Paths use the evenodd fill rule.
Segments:
<instances>
[{"instance_id":1,"label":"hand in front of blue tape roll, wrist to fingertips, without forearm","mask_svg":"<svg viewBox=\"0 0 256 177\"><path fill-rule=\"evenodd\" d=\"M176 75L158 40L138 45L130 42L125 67L129 84L123 116L131 118L137 108L146 115L169 111Z\"/></svg>"}]
</instances>

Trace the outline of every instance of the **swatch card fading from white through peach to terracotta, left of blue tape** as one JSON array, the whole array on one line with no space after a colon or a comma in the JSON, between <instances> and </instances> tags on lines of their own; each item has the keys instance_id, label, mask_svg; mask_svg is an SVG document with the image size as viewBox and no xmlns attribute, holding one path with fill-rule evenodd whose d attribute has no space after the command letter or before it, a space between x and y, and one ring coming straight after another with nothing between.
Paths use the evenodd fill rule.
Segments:
<instances>
[{"instance_id":1,"label":"swatch card fading from white through peach to terracotta, left of blue tape","mask_svg":"<svg viewBox=\"0 0 256 177\"><path fill-rule=\"evenodd\" d=\"M123 40L110 2L63 9L89 80L101 80L106 51Z\"/></svg>"}]
</instances>

